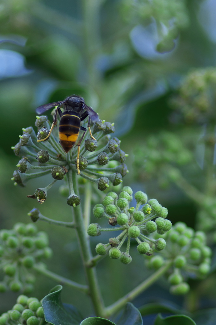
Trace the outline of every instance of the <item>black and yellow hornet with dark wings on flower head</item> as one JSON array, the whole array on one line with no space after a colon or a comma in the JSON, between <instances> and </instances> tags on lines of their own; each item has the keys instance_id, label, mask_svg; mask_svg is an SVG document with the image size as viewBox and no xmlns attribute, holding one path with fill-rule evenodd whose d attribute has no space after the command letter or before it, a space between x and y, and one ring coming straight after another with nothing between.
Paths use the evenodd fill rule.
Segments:
<instances>
[{"instance_id":1,"label":"black and yellow hornet with dark wings on flower head","mask_svg":"<svg viewBox=\"0 0 216 325\"><path fill-rule=\"evenodd\" d=\"M87 106L85 104L84 99L82 97L76 95L69 96L62 101L41 105L36 109L36 113L40 115L46 110L49 110L55 106L57 106L57 108L53 115L53 123L50 128L49 134L44 139L37 140L37 142L45 141L49 138L54 126L57 125L58 114L61 118L59 122L59 142L66 153L69 152L70 149L72 149L75 145L80 130L84 131L82 137L77 143L77 171L80 175L80 145L87 131L85 127L80 125L80 122L88 116L87 127L89 128L90 136L95 140L90 129L90 123L91 120L92 122L95 122L98 119L98 115L90 106ZM64 112L60 110L60 107L64 109Z\"/></svg>"}]
</instances>

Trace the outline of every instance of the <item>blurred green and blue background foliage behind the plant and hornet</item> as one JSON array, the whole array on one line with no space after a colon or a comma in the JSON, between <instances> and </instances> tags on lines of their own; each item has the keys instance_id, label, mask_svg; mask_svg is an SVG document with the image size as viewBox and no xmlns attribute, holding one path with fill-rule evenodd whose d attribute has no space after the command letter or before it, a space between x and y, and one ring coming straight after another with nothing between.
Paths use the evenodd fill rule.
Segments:
<instances>
[{"instance_id":1,"label":"blurred green and blue background foliage behind the plant and hornet","mask_svg":"<svg viewBox=\"0 0 216 325\"><path fill-rule=\"evenodd\" d=\"M22 127L34 125L37 106L77 94L102 120L115 122L115 136L129 154L123 184L157 198L172 223L205 227L209 244L215 241L215 9L216 0L1 1L1 228L29 222L34 202L26 195L46 184L14 187L10 178L19 158L11 146ZM50 192L41 212L70 221L65 199L55 186ZM38 227L48 232L54 250L49 269L84 281L74 234L45 223ZM143 279L141 261L127 270L110 259L101 262L107 304ZM42 298L55 283L39 280L34 295ZM115 292L107 290L109 283ZM205 306L215 303L211 287ZM155 295L169 298L154 287L137 305ZM0 312L16 296L7 293ZM71 296L65 288L63 300L85 305L84 316L91 310L79 292Z\"/></svg>"}]
</instances>

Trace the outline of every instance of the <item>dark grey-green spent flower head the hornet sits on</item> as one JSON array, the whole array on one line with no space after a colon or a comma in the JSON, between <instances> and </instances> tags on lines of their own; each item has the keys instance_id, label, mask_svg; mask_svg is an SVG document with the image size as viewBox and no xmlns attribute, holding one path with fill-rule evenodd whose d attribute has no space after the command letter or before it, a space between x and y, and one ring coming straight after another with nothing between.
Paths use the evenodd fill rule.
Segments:
<instances>
[{"instance_id":1,"label":"dark grey-green spent flower head the hornet sits on","mask_svg":"<svg viewBox=\"0 0 216 325\"><path fill-rule=\"evenodd\" d=\"M59 144L58 134L55 134L57 132L55 130L47 140L37 142L38 139L44 139L49 133L50 123L46 116L37 116L35 126L38 128L37 135L32 127L23 128L19 142L12 147L15 155L21 159L11 179L15 185L23 187L28 180L49 174L50 184L43 188L37 188L32 195L28 195L29 198L44 203L48 189L57 180L61 181L66 178L67 190L63 191L63 195L68 192L67 204L71 206L80 204L81 199L73 192L69 181L69 174L77 173L77 158L74 159L77 156L77 146L73 146L66 154ZM101 191L107 189L110 182L114 186L121 184L122 177L128 173L124 163L127 154L120 149L121 141L110 136L114 131L114 124L97 120L92 128L92 134L96 134L97 141L92 137L87 138L88 132L86 132L80 145L80 176L84 180L95 183ZM100 140L102 146L100 145L100 149L98 149L97 143ZM61 189L60 193L62 193Z\"/></svg>"}]
</instances>

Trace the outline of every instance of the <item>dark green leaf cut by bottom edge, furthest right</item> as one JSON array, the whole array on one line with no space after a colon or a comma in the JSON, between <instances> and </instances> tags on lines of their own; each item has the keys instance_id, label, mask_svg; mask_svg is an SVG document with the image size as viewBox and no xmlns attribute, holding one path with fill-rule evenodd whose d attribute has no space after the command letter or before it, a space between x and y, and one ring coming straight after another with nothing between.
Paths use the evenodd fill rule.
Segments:
<instances>
[{"instance_id":1,"label":"dark green leaf cut by bottom edge, furthest right","mask_svg":"<svg viewBox=\"0 0 216 325\"><path fill-rule=\"evenodd\" d=\"M186 315L173 315L163 318L158 314L154 325L197 325L195 321Z\"/></svg>"}]
</instances>

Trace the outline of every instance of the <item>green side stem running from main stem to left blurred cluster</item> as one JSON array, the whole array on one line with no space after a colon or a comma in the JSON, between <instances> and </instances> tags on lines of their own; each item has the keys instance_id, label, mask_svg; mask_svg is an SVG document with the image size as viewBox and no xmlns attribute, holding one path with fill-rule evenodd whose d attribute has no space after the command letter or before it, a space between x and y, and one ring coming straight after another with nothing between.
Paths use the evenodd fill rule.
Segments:
<instances>
[{"instance_id":1,"label":"green side stem running from main stem to left blurred cluster","mask_svg":"<svg viewBox=\"0 0 216 325\"><path fill-rule=\"evenodd\" d=\"M70 288L75 288L75 289L82 291L84 293L88 293L88 286L86 286L86 285L77 283L75 281L71 281L67 278L64 278L54 272L51 272L51 271L49 271L43 267L37 266L37 265L33 266L33 269L36 270L38 273L41 273L41 274L45 275L46 277L57 281L60 284L65 284L65 285L69 286Z\"/></svg>"}]
</instances>

